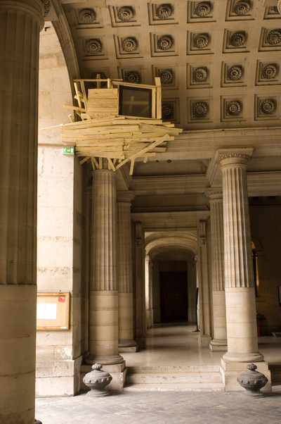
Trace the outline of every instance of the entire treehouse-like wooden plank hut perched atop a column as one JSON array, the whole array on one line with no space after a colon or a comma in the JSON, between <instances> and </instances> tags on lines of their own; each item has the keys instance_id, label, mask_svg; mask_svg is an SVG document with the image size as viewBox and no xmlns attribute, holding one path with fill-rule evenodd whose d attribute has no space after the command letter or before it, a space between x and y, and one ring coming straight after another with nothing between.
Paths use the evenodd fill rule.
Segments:
<instances>
[{"instance_id":1,"label":"entire treehouse-like wooden plank hut perched atop a column","mask_svg":"<svg viewBox=\"0 0 281 424\"><path fill-rule=\"evenodd\" d=\"M86 89L89 82L96 83L98 88ZM106 82L107 88L100 88L102 82ZM151 118L119 116L121 86L136 89L135 92L141 89L151 90ZM121 80L100 78L74 80L74 89L74 99L78 105L63 106L72 109L81 120L75 122L70 116L70 123L44 130L60 128L62 142L67 146L75 146L75 154L83 157L80 163L90 160L93 169L103 168L103 158L107 158L107 166L112 170L117 170L124 163L131 161L132 174L136 158L141 157L146 162L150 156L166 151L166 142L174 140L174 137L182 132L181 128L161 119L159 77L155 78L155 85L130 84ZM135 100L135 96L130 99L126 106L129 113L133 111L134 102L137 107L145 107L142 100Z\"/></svg>"}]
</instances>

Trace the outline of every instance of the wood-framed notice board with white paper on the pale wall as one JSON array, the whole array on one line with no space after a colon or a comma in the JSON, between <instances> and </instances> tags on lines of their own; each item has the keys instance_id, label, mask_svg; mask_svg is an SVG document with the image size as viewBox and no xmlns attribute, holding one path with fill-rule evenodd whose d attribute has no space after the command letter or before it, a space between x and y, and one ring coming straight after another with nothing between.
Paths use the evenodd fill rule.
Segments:
<instances>
[{"instance_id":1,"label":"wood-framed notice board with white paper on the pale wall","mask_svg":"<svg viewBox=\"0 0 281 424\"><path fill-rule=\"evenodd\" d=\"M37 293L37 330L70 328L70 294Z\"/></svg>"}]
</instances>

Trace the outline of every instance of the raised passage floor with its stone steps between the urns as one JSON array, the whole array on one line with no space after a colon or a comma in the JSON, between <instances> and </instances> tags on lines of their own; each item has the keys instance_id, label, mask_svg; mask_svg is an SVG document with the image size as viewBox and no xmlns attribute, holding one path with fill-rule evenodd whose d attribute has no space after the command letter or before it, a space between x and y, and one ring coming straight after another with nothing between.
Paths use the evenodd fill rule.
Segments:
<instances>
[{"instance_id":1,"label":"raised passage floor with its stone steps between the urns","mask_svg":"<svg viewBox=\"0 0 281 424\"><path fill-rule=\"evenodd\" d=\"M128 369L124 390L223 391L220 364L225 352L199 347L198 338L194 324L153 325L145 349L122 353ZM259 337L259 351L268 362L273 392L280 392L281 338Z\"/></svg>"}]
</instances>

